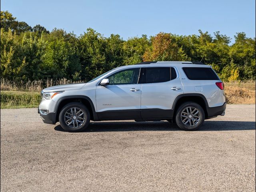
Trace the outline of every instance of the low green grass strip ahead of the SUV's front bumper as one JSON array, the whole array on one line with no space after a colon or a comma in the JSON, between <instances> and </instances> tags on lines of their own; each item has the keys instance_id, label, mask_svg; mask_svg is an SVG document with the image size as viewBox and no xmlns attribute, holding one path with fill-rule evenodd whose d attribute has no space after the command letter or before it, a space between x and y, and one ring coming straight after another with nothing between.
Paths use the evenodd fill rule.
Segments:
<instances>
[{"instance_id":1,"label":"low green grass strip ahead of the SUV's front bumper","mask_svg":"<svg viewBox=\"0 0 256 192\"><path fill-rule=\"evenodd\" d=\"M21 91L2 91L1 109L10 108L34 108L38 107L41 102L41 96L38 92L21 92Z\"/></svg>"}]
</instances>

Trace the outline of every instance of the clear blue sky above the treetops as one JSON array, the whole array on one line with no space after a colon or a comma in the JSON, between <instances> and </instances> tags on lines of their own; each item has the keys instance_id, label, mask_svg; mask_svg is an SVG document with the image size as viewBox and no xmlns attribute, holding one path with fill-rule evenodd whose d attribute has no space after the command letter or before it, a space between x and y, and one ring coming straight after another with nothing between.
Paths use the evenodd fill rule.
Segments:
<instances>
[{"instance_id":1,"label":"clear blue sky above the treetops","mask_svg":"<svg viewBox=\"0 0 256 192\"><path fill-rule=\"evenodd\" d=\"M40 24L77 35L91 27L124 40L159 32L198 34L198 29L231 38L236 32L255 37L255 0L1 0L1 10L32 27Z\"/></svg>"}]
</instances>

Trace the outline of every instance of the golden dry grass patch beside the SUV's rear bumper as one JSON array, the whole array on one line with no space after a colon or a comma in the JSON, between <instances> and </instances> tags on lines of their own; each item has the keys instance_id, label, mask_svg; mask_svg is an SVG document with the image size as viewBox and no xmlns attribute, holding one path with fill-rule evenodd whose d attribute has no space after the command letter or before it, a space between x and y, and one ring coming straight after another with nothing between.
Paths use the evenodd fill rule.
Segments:
<instances>
[{"instance_id":1,"label":"golden dry grass patch beside the SUV's rear bumper","mask_svg":"<svg viewBox=\"0 0 256 192\"><path fill-rule=\"evenodd\" d=\"M255 104L255 90L237 86L225 86L228 104Z\"/></svg>"}]
</instances>

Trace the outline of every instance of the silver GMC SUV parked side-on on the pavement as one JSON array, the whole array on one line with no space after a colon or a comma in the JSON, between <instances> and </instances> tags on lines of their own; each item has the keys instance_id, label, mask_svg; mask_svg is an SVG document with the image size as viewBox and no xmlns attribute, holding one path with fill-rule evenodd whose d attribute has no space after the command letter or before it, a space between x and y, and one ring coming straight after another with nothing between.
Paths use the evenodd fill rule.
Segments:
<instances>
[{"instance_id":1,"label":"silver GMC SUV parked side-on on the pavement","mask_svg":"<svg viewBox=\"0 0 256 192\"><path fill-rule=\"evenodd\" d=\"M64 130L86 129L90 120L176 122L196 130L224 115L224 84L201 62L142 62L110 70L87 83L42 90L38 113Z\"/></svg>"}]
</instances>

